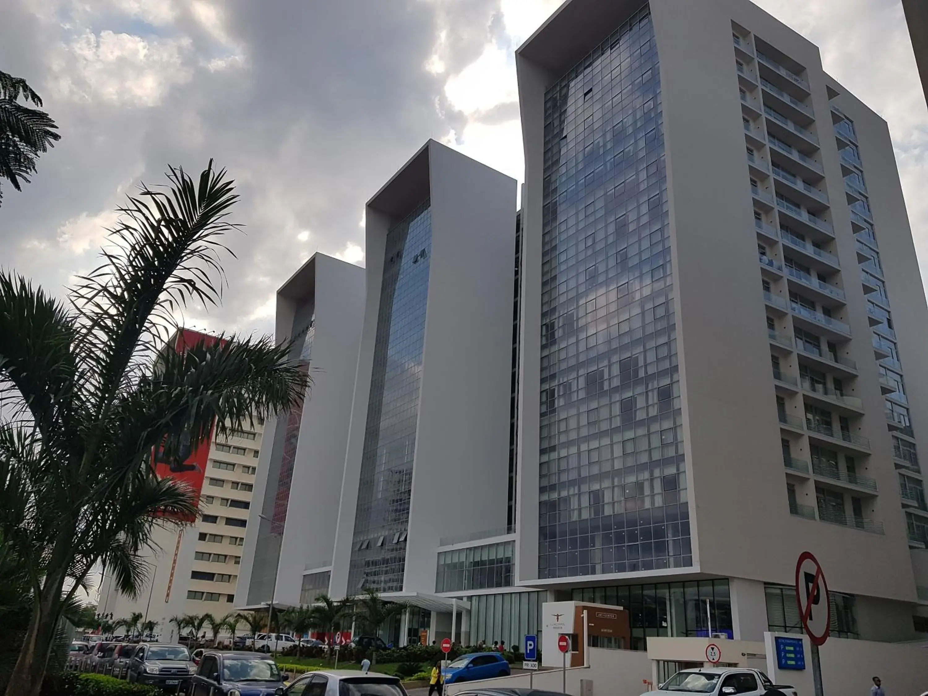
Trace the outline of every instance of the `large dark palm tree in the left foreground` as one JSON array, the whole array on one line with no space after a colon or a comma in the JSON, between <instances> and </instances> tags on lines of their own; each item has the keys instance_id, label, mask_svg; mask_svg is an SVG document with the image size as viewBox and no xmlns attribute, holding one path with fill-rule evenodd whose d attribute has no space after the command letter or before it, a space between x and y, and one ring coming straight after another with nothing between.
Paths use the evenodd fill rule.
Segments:
<instances>
[{"instance_id":1,"label":"large dark palm tree in the left foreground","mask_svg":"<svg viewBox=\"0 0 928 696\"><path fill-rule=\"evenodd\" d=\"M308 384L271 337L164 349L174 314L220 301L238 198L212 161L197 183L174 168L168 180L129 197L67 303L0 271L0 533L33 598L7 696L38 696L65 602L98 562L135 597L154 530L196 518L193 492L160 479L152 452L179 461L213 427L226 435L299 404Z\"/></svg>"}]
</instances>

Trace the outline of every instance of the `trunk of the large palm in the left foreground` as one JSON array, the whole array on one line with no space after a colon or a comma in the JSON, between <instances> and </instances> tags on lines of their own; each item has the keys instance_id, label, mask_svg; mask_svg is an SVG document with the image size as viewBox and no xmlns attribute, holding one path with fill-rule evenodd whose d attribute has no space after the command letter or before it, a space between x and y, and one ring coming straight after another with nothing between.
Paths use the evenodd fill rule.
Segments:
<instances>
[{"instance_id":1,"label":"trunk of the large palm in the left foreground","mask_svg":"<svg viewBox=\"0 0 928 696\"><path fill-rule=\"evenodd\" d=\"M39 602L32 610L19 658L6 685L6 696L39 696L58 628L64 580L64 570L45 576Z\"/></svg>"}]
</instances>

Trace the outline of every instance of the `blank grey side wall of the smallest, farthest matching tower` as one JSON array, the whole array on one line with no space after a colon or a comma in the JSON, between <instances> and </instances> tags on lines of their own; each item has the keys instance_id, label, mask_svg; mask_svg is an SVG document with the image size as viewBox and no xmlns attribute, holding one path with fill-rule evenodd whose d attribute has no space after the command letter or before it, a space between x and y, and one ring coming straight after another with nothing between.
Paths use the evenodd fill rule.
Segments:
<instances>
[{"instance_id":1,"label":"blank grey side wall of the smallest, farthest matching tower","mask_svg":"<svg viewBox=\"0 0 928 696\"><path fill-rule=\"evenodd\" d=\"M316 336L310 398L303 406L277 601L298 604L303 570L329 565L335 548L357 350L364 269L316 254Z\"/></svg>"}]
</instances>

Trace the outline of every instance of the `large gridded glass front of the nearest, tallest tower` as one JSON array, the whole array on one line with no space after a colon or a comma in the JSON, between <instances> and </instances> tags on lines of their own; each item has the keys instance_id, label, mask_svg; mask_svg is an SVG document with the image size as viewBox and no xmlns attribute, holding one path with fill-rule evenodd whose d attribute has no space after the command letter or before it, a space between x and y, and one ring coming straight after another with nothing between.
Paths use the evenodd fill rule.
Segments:
<instances>
[{"instance_id":1,"label":"large gridded glass front of the nearest, tallest tower","mask_svg":"<svg viewBox=\"0 0 928 696\"><path fill-rule=\"evenodd\" d=\"M648 6L545 96L541 578L692 565L662 114Z\"/></svg>"}]
</instances>

